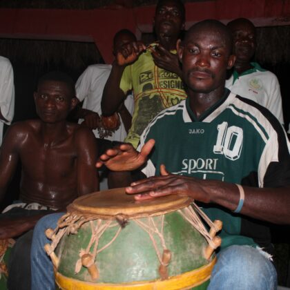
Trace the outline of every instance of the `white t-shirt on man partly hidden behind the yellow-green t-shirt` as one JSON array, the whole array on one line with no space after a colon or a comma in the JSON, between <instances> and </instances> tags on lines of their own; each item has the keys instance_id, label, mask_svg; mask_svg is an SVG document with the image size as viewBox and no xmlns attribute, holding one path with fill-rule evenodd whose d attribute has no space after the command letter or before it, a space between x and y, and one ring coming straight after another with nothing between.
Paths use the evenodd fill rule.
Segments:
<instances>
[{"instance_id":1,"label":"white t-shirt on man partly hidden behind the yellow-green t-shirt","mask_svg":"<svg viewBox=\"0 0 290 290\"><path fill-rule=\"evenodd\" d=\"M81 74L75 85L77 98L79 101L84 101L83 108L92 110L101 115L101 96L103 95L104 86L110 75L112 66L110 64L93 64L88 66ZM131 115L134 110L133 95L128 95L125 100L125 106ZM120 118L121 119L121 118ZM82 122L80 120L79 122ZM95 137L99 137L99 133L93 130ZM106 139L115 141L124 141L127 133L121 119L119 129Z\"/></svg>"}]
</instances>

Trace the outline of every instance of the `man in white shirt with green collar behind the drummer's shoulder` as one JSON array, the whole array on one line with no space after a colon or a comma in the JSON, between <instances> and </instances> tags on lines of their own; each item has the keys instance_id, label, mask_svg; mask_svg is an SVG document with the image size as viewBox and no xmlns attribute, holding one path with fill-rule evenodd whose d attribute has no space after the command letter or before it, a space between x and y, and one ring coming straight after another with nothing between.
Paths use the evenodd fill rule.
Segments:
<instances>
[{"instance_id":1,"label":"man in white shirt with green collar behind the drummer's shoulder","mask_svg":"<svg viewBox=\"0 0 290 290\"><path fill-rule=\"evenodd\" d=\"M233 37L233 53L237 57L231 77L226 80L226 88L233 93L252 99L264 106L284 124L282 98L276 75L251 62L255 54L255 26L245 18L234 19L227 26Z\"/></svg>"}]
</instances>

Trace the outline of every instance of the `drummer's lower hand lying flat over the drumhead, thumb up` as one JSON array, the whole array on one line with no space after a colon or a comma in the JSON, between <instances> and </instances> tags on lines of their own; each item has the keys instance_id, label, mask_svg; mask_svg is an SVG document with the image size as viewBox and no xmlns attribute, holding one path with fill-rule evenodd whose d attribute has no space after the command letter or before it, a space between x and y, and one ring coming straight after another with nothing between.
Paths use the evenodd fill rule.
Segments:
<instances>
[{"instance_id":1,"label":"drummer's lower hand lying flat over the drumhead, thumb up","mask_svg":"<svg viewBox=\"0 0 290 290\"><path fill-rule=\"evenodd\" d=\"M154 197L179 194L193 197L200 202L210 202L209 195L204 191L204 180L168 173L163 164L160 166L160 173L161 176L133 182L131 186L126 187L126 193L136 194L135 200L149 200Z\"/></svg>"}]
</instances>

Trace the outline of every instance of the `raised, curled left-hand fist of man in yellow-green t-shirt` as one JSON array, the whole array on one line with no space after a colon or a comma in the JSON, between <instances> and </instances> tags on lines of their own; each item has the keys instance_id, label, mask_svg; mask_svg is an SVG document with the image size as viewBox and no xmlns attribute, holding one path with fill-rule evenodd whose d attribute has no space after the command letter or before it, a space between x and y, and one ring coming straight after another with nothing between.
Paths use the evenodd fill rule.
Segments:
<instances>
[{"instance_id":1,"label":"raised, curled left-hand fist of man in yellow-green t-shirt","mask_svg":"<svg viewBox=\"0 0 290 290\"><path fill-rule=\"evenodd\" d=\"M146 50L146 46L142 43L142 41L125 43L117 51L117 65L126 66L128 64L132 64L144 50Z\"/></svg>"}]
</instances>

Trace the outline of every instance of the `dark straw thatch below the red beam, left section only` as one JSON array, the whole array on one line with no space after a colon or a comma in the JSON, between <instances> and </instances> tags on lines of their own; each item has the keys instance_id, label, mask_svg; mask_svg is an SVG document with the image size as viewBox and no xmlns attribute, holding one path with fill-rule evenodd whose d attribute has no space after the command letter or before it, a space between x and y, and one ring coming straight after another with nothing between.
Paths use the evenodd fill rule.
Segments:
<instances>
[{"instance_id":1,"label":"dark straw thatch below the red beam, left section only","mask_svg":"<svg viewBox=\"0 0 290 290\"><path fill-rule=\"evenodd\" d=\"M1 39L0 55L12 64L40 68L68 68L80 73L88 64L103 63L95 43L30 39Z\"/></svg>"}]
</instances>

